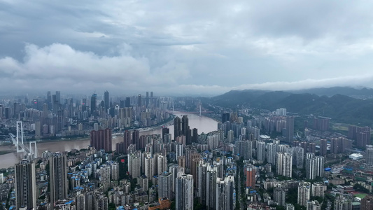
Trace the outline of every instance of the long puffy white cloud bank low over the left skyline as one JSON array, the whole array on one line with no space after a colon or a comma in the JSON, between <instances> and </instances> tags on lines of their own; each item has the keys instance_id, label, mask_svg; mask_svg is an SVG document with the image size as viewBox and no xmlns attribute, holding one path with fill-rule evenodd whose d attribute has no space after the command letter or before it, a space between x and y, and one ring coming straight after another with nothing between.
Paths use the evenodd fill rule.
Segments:
<instances>
[{"instance_id":1,"label":"long puffy white cloud bank low over the left skyline","mask_svg":"<svg viewBox=\"0 0 373 210\"><path fill-rule=\"evenodd\" d=\"M10 90L33 87L37 91L56 88L66 91L76 88L83 88L83 91L97 88L144 90L148 86L174 84L176 80L188 77L188 69L176 62L151 73L144 57L99 56L59 43L44 48L28 44L24 52L22 62L10 57L0 59L3 87Z\"/></svg>"}]
</instances>

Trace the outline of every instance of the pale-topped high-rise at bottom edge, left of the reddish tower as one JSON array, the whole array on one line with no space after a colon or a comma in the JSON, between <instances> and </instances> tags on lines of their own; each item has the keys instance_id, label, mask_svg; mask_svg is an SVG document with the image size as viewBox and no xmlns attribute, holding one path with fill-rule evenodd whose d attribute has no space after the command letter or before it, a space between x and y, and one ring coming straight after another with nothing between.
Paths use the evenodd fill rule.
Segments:
<instances>
[{"instance_id":1,"label":"pale-topped high-rise at bottom edge, left of the reddish tower","mask_svg":"<svg viewBox=\"0 0 373 210\"><path fill-rule=\"evenodd\" d=\"M234 178L227 176L216 181L216 209L233 210Z\"/></svg>"}]
</instances>

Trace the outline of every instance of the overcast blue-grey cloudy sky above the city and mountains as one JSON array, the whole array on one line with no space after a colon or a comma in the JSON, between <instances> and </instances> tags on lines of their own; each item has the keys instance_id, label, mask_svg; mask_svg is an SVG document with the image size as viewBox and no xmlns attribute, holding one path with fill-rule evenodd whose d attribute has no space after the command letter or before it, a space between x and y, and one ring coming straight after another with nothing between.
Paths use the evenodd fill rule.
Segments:
<instances>
[{"instance_id":1,"label":"overcast blue-grey cloudy sky above the city and mountains","mask_svg":"<svg viewBox=\"0 0 373 210\"><path fill-rule=\"evenodd\" d=\"M373 87L370 1L0 0L0 93Z\"/></svg>"}]
</instances>

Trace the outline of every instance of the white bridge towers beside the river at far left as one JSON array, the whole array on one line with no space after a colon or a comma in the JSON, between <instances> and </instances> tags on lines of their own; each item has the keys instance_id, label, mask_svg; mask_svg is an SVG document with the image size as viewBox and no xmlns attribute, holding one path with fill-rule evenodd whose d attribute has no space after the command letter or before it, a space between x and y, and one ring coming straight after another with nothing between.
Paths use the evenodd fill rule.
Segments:
<instances>
[{"instance_id":1,"label":"white bridge towers beside the river at far left","mask_svg":"<svg viewBox=\"0 0 373 210\"><path fill-rule=\"evenodd\" d=\"M9 133L10 138L13 141L13 144L15 145L15 148L17 148L17 153L27 153L34 155L34 158L38 157L38 150L36 147L36 141L29 141L29 147L24 146L23 144L23 127L22 127L22 121L17 121L17 134L16 136L12 133ZM32 144L34 144L34 148L32 148Z\"/></svg>"}]
</instances>

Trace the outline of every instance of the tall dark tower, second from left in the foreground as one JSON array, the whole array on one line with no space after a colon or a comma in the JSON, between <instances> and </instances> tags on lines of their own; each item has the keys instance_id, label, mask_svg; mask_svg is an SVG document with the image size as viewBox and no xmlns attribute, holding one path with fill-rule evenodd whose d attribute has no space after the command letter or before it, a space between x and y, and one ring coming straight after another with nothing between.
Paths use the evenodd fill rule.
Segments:
<instances>
[{"instance_id":1,"label":"tall dark tower, second from left in the foreground","mask_svg":"<svg viewBox=\"0 0 373 210\"><path fill-rule=\"evenodd\" d=\"M49 165L50 204L54 206L57 200L67 198L69 184L67 180L66 155L62 155L61 153L50 155Z\"/></svg>"}]
</instances>

